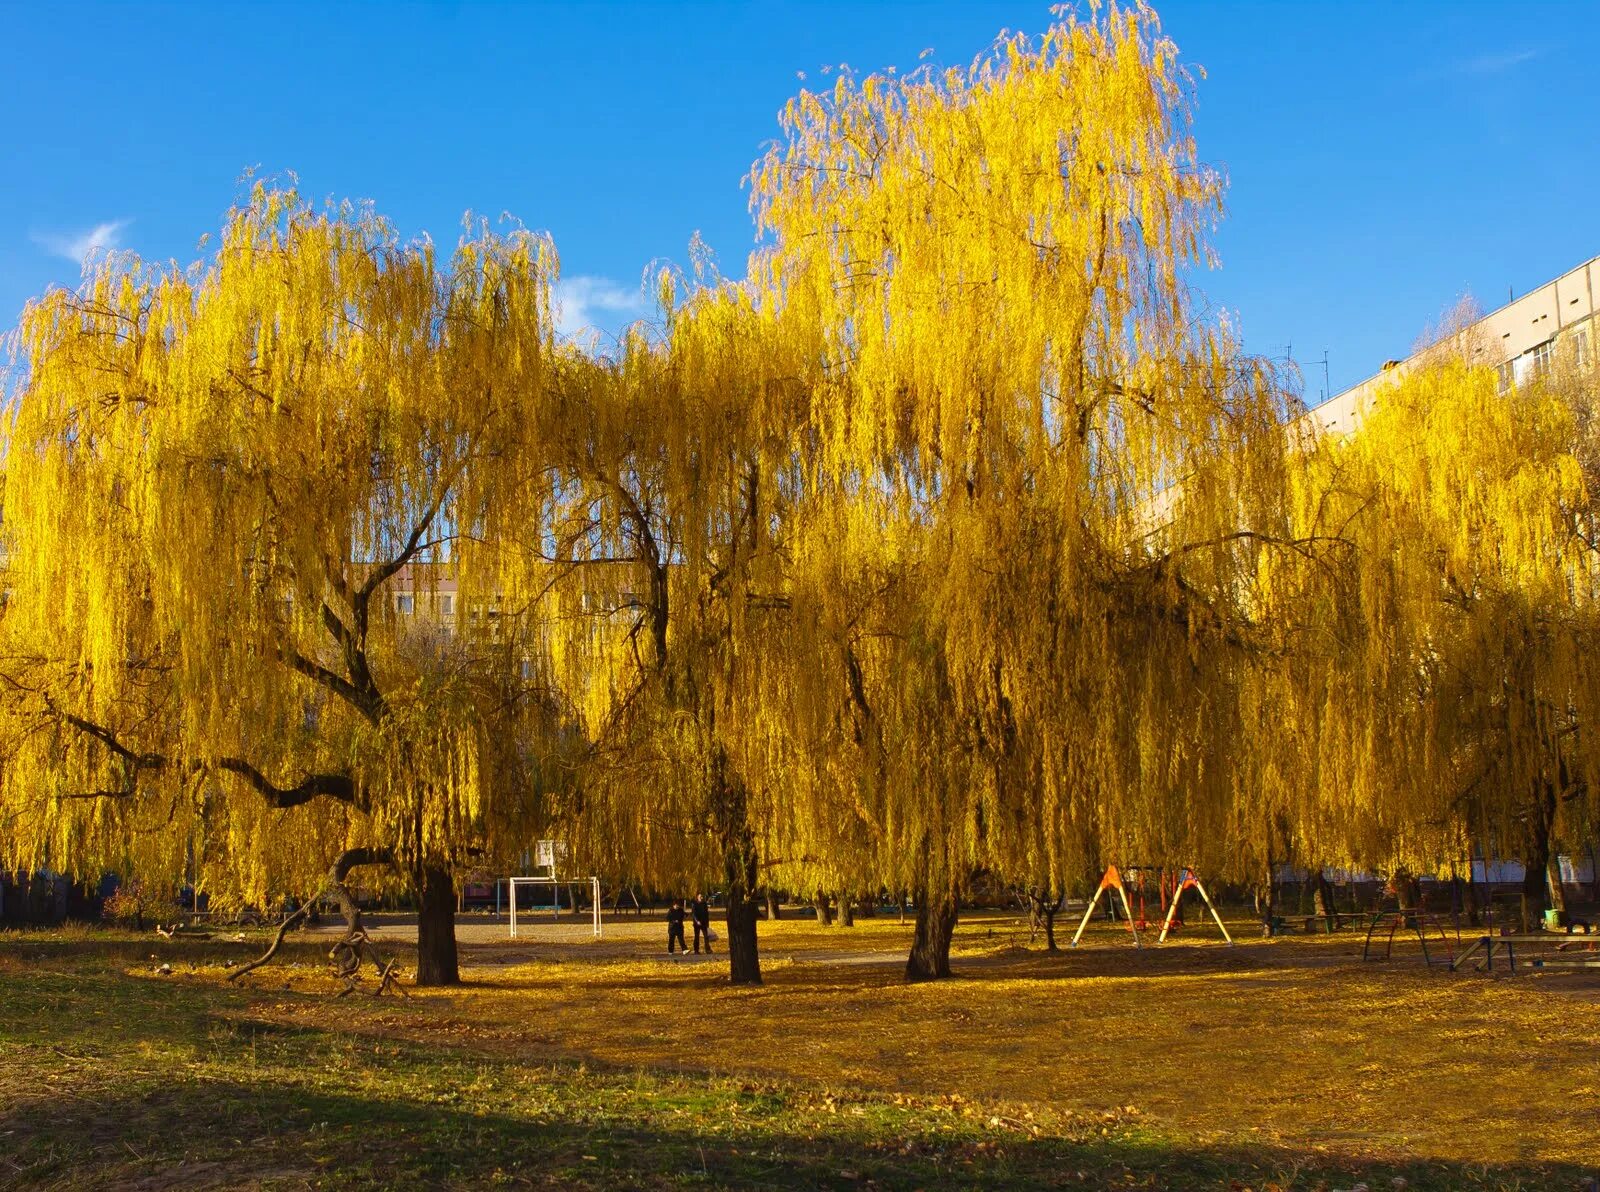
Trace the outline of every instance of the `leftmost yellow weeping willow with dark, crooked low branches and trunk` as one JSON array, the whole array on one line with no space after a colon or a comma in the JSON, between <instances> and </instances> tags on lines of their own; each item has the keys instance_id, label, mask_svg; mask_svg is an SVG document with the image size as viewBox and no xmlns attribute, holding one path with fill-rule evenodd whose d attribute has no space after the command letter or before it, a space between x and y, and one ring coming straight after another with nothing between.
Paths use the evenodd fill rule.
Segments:
<instances>
[{"instance_id":1,"label":"leftmost yellow weeping willow with dark, crooked low branches and trunk","mask_svg":"<svg viewBox=\"0 0 1600 1192\"><path fill-rule=\"evenodd\" d=\"M406 611L446 573L491 600L483 494L541 432L554 267L531 235L440 262L258 187L208 262L27 307L6 864L248 901L379 864L421 907L419 981L456 981L453 870L522 848L563 707L538 610Z\"/></svg>"}]
</instances>

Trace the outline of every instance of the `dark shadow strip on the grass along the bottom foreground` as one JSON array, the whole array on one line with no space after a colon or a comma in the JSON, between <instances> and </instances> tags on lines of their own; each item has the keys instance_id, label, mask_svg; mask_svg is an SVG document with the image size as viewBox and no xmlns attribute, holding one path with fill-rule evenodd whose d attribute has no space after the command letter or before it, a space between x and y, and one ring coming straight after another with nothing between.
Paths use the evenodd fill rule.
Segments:
<instances>
[{"instance_id":1,"label":"dark shadow strip on the grass along the bottom foreground","mask_svg":"<svg viewBox=\"0 0 1600 1192\"><path fill-rule=\"evenodd\" d=\"M765 1091L682 1082L630 1091L581 1072L576 1104L491 1090L419 1096L307 1090L280 1077L186 1082L102 1101L37 1098L0 1115L0 1187L1160 1187L1315 1189L1402 1176L1427 1189L1578 1189L1578 1168L1306 1166L1270 1147L1192 1147L1138 1131L1027 1138L928 1123L818 1117ZM477 1091L475 1091L477 1090ZM429 1102L427 1098L434 1098ZM482 1098L480 1104L440 1099ZM648 1102L648 1104L646 1104ZM677 1118L672 1122L669 1118ZM910 1128L906 1128L910 1126ZM982 1136L979 1136L982 1134Z\"/></svg>"}]
</instances>

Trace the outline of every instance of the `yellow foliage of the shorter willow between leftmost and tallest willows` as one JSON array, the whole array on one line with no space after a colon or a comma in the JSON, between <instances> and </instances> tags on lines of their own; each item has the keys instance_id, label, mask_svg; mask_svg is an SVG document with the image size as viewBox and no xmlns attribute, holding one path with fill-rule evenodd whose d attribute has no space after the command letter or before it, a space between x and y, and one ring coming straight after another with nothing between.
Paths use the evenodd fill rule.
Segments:
<instances>
[{"instance_id":1,"label":"yellow foliage of the shorter willow between leftmost and tallest willows","mask_svg":"<svg viewBox=\"0 0 1600 1192\"><path fill-rule=\"evenodd\" d=\"M507 586L568 610L555 674L592 752L563 832L584 864L658 888L723 875L771 814L752 800L782 798L730 752L787 706L750 651L787 626L805 414L798 365L746 288L672 290L664 341L632 331L614 358L554 366L568 432L498 514L549 544Z\"/></svg>"}]
</instances>

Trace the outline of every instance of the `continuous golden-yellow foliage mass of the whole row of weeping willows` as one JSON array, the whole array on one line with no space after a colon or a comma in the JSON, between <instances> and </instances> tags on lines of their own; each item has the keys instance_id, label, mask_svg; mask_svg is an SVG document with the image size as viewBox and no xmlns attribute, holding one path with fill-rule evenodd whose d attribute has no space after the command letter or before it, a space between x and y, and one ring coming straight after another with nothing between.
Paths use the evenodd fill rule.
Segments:
<instances>
[{"instance_id":1,"label":"continuous golden-yellow foliage mass of the whole row of weeping willows","mask_svg":"<svg viewBox=\"0 0 1600 1192\"><path fill-rule=\"evenodd\" d=\"M264 189L203 267L48 294L0 861L259 896L555 824L658 886L933 893L1571 835L1570 403L1445 365L1296 442L1184 286L1189 104L1142 6L802 93L747 278L664 277L603 357L536 237L440 264ZM454 637L392 600L440 576Z\"/></svg>"}]
</instances>

